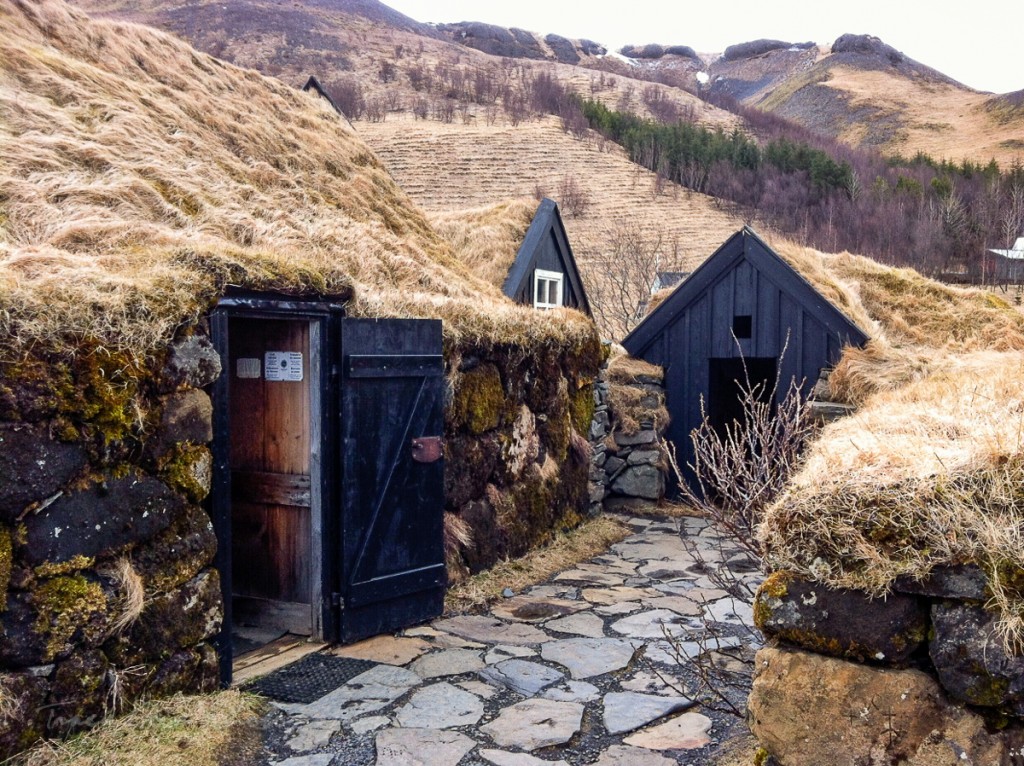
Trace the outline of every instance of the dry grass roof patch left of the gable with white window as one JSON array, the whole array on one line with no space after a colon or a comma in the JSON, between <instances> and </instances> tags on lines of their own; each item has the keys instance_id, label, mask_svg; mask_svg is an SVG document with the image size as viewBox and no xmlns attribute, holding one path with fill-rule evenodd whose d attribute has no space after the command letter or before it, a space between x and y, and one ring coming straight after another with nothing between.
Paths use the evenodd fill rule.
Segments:
<instances>
[{"instance_id":1,"label":"dry grass roof patch left of the gable with white window","mask_svg":"<svg viewBox=\"0 0 1024 766\"><path fill-rule=\"evenodd\" d=\"M470 271L500 290L536 212L536 200L520 198L455 213L432 213L430 222Z\"/></svg>"}]
</instances>

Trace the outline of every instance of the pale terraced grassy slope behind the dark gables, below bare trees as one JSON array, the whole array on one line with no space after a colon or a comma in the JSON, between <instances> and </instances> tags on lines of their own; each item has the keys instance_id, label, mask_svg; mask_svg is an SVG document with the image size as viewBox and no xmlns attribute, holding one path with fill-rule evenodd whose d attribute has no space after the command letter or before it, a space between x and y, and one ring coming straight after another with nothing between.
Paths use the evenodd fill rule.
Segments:
<instances>
[{"instance_id":1,"label":"pale terraced grassy slope behind the dark gables, below bare trees","mask_svg":"<svg viewBox=\"0 0 1024 766\"><path fill-rule=\"evenodd\" d=\"M428 212L537 192L557 200L563 181L573 178L590 204L582 215L563 211L563 217L585 278L616 229L637 225L648 237L660 237L667 252L678 252L680 266L689 269L743 223L714 198L671 183L658 193L655 175L630 162L620 146L593 135L574 138L553 117L513 127L395 116L356 123L356 129Z\"/></svg>"}]
</instances>

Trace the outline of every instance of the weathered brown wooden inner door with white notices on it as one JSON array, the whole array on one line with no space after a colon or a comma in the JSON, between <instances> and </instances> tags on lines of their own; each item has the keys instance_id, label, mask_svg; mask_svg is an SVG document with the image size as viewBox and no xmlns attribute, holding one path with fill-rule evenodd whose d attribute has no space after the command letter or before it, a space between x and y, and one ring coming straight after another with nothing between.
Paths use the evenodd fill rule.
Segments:
<instances>
[{"instance_id":1,"label":"weathered brown wooden inner door with white notices on it","mask_svg":"<svg viewBox=\"0 0 1024 766\"><path fill-rule=\"evenodd\" d=\"M309 634L309 323L232 318L228 332L236 620Z\"/></svg>"}]
</instances>

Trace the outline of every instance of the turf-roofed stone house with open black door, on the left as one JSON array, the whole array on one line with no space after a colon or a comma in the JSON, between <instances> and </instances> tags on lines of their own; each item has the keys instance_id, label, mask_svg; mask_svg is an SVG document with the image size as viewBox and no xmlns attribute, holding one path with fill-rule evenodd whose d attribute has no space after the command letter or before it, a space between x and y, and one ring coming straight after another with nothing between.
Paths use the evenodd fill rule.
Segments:
<instances>
[{"instance_id":1,"label":"turf-roofed stone house with open black door, on the left","mask_svg":"<svg viewBox=\"0 0 1024 766\"><path fill-rule=\"evenodd\" d=\"M25 2L0 114L0 752L586 513L593 323L475 276L326 101Z\"/></svg>"}]
</instances>

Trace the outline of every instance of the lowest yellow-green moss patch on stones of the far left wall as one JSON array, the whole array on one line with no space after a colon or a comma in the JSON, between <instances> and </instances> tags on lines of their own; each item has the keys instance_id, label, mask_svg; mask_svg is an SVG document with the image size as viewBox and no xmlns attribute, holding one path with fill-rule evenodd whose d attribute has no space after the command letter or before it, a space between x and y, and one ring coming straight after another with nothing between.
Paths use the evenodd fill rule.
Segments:
<instances>
[{"instance_id":1,"label":"lowest yellow-green moss patch on stones of the far left wall","mask_svg":"<svg viewBox=\"0 0 1024 766\"><path fill-rule=\"evenodd\" d=\"M97 638L106 624L106 594L84 574L45 580L32 592L39 618L35 630L46 640L46 662L68 651L78 631Z\"/></svg>"}]
</instances>

